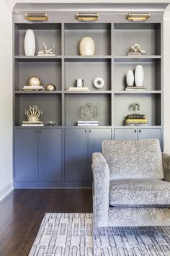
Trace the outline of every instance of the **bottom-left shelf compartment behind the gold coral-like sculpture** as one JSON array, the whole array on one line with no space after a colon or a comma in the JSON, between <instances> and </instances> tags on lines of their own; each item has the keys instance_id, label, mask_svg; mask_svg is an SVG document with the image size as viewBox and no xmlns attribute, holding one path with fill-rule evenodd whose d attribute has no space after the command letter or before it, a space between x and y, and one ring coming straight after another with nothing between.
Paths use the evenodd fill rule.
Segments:
<instances>
[{"instance_id":1,"label":"bottom-left shelf compartment behind the gold coral-like sculpture","mask_svg":"<svg viewBox=\"0 0 170 256\"><path fill-rule=\"evenodd\" d=\"M42 109L40 121L56 121L61 125L61 95L16 95L15 96L15 125L21 125L26 121L25 108L38 105Z\"/></svg>"}]
</instances>

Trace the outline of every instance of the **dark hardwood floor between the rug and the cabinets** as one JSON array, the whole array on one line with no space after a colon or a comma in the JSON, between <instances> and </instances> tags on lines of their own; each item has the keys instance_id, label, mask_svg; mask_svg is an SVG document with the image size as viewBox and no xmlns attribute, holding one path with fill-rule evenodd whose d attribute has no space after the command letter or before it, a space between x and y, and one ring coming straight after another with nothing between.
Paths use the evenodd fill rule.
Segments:
<instances>
[{"instance_id":1,"label":"dark hardwood floor between the rug and the cabinets","mask_svg":"<svg viewBox=\"0 0 170 256\"><path fill-rule=\"evenodd\" d=\"M0 202L0 256L27 256L45 213L92 213L91 189L14 189Z\"/></svg>"}]
</instances>

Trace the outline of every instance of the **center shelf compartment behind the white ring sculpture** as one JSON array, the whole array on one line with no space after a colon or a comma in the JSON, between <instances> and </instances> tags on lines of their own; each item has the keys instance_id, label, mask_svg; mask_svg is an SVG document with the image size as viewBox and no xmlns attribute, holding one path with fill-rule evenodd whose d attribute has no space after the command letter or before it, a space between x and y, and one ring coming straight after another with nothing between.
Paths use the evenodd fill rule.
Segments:
<instances>
[{"instance_id":1,"label":"center shelf compartment behind the white ring sculpture","mask_svg":"<svg viewBox=\"0 0 170 256\"><path fill-rule=\"evenodd\" d=\"M104 79L104 86L101 89L94 87L94 79L102 77ZM76 86L76 79L84 79L84 87L90 90L111 90L111 59L75 59L65 60L65 89Z\"/></svg>"}]
</instances>

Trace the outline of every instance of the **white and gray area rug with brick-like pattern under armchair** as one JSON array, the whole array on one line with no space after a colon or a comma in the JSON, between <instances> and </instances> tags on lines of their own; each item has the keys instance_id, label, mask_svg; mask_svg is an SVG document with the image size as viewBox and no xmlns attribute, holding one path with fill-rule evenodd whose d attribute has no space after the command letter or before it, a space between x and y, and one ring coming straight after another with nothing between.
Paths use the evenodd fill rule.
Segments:
<instances>
[{"instance_id":1,"label":"white and gray area rug with brick-like pattern under armchair","mask_svg":"<svg viewBox=\"0 0 170 256\"><path fill-rule=\"evenodd\" d=\"M92 256L91 217L46 213L29 256ZM95 256L170 256L170 227L100 228L95 246Z\"/></svg>"}]
</instances>

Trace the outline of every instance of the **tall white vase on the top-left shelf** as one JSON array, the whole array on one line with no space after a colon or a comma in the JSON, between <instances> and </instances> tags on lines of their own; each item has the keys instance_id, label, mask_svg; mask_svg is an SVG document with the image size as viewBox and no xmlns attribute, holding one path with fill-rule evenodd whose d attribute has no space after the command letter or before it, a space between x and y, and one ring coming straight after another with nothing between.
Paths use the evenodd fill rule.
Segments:
<instances>
[{"instance_id":1,"label":"tall white vase on the top-left shelf","mask_svg":"<svg viewBox=\"0 0 170 256\"><path fill-rule=\"evenodd\" d=\"M35 34L33 30L27 30L24 36L24 53L26 56L35 55Z\"/></svg>"}]
</instances>

